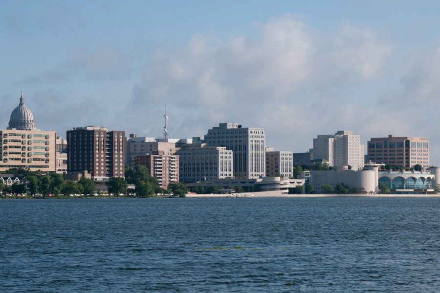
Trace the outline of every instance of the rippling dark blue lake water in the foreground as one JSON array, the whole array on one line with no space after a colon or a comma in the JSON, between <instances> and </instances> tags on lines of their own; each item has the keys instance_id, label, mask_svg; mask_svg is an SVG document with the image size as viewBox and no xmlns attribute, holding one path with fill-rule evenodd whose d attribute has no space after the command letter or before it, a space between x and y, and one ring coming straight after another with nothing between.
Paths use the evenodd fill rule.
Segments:
<instances>
[{"instance_id":1,"label":"rippling dark blue lake water in the foreground","mask_svg":"<svg viewBox=\"0 0 440 293\"><path fill-rule=\"evenodd\" d=\"M440 292L440 199L0 201L4 292Z\"/></svg>"}]
</instances>

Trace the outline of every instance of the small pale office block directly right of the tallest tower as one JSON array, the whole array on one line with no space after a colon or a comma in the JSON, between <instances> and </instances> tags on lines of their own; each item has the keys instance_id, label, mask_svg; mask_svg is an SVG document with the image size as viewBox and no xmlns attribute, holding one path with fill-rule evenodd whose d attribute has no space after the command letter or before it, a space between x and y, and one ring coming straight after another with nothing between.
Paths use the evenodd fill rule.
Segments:
<instances>
[{"instance_id":1,"label":"small pale office block directly right of the tallest tower","mask_svg":"<svg viewBox=\"0 0 440 293\"><path fill-rule=\"evenodd\" d=\"M268 149L266 148L266 176L286 179L293 176L293 152Z\"/></svg>"}]
</instances>

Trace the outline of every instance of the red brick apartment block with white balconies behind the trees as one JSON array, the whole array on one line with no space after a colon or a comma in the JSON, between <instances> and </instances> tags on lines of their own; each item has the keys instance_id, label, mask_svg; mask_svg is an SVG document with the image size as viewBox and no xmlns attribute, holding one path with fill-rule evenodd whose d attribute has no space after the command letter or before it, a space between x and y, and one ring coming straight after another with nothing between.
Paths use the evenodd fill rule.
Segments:
<instances>
[{"instance_id":1,"label":"red brick apartment block with white balconies behind the trees","mask_svg":"<svg viewBox=\"0 0 440 293\"><path fill-rule=\"evenodd\" d=\"M147 167L150 175L157 178L163 189L179 181L179 156L165 155L164 151L155 150L152 154L136 156L135 162L136 166Z\"/></svg>"}]
</instances>

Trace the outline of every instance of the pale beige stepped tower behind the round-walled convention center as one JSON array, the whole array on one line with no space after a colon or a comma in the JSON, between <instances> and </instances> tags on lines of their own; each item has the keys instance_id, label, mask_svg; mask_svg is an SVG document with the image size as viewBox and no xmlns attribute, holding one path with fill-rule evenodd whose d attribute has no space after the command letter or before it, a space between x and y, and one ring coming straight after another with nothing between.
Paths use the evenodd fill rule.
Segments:
<instances>
[{"instance_id":1,"label":"pale beige stepped tower behind the round-walled convention center","mask_svg":"<svg viewBox=\"0 0 440 293\"><path fill-rule=\"evenodd\" d=\"M318 135L313 139L313 160L324 159L330 166L351 166L352 170L364 167L364 145L360 136L352 131Z\"/></svg>"}]
</instances>

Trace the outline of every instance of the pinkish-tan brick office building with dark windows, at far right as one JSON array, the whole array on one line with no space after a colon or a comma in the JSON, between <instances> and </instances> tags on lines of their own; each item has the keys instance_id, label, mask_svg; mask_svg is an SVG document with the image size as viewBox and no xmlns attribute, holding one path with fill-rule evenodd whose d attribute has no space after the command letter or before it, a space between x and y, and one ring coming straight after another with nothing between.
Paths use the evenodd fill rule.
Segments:
<instances>
[{"instance_id":1,"label":"pinkish-tan brick office building with dark windows, at far right","mask_svg":"<svg viewBox=\"0 0 440 293\"><path fill-rule=\"evenodd\" d=\"M429 166L429 141L425 137L395 137L390 134L388 137L371 138L367 146L368 160L377 164Z\"/></svg>"}]
</instances>

